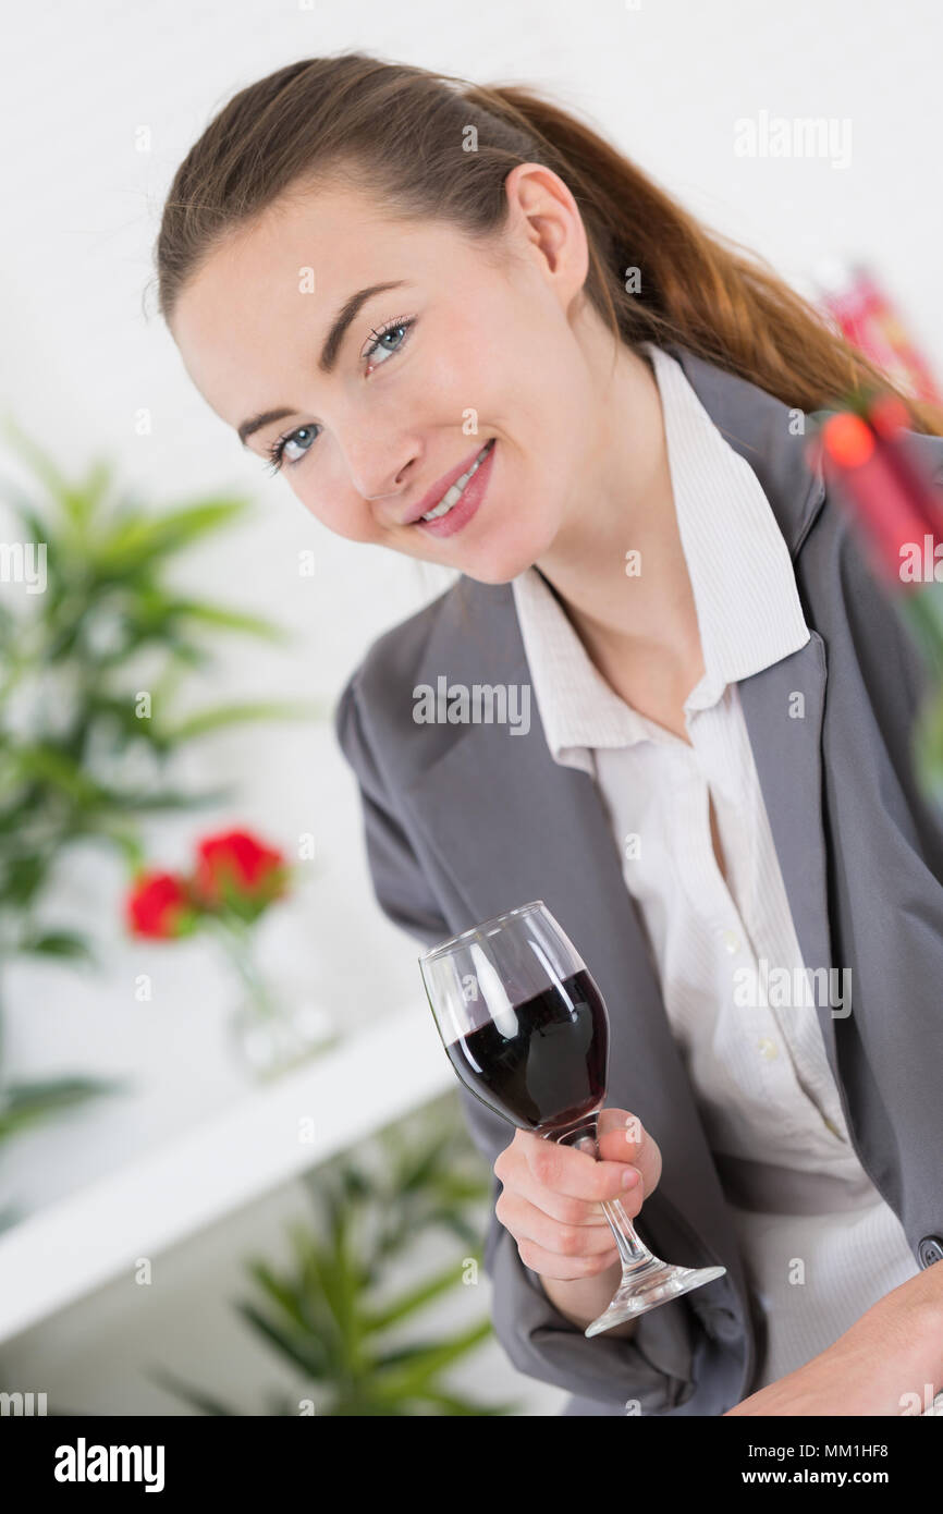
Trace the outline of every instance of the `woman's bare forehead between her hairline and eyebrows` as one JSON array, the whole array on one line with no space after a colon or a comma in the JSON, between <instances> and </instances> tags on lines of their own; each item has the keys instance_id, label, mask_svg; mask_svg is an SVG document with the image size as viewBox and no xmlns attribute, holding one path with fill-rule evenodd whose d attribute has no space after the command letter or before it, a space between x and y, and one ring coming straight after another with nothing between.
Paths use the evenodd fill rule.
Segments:
<instances>
[{"instance_id":1,"label":"woman's bare forehead between her hairline and eyebrows","mask_svg":"<svg viewBox=\"0 0 943 1514\"><path fill-rule=\"evenodd\" d=\"M182 289L171 330L183 365L230 425L274 404L300 404L282 391L300 365L313 371L313 347L344 301L397 279L451 280L456 242L445 223L400 218L354 189L283 197L227 235ZM404 313L407 289L387 298Z\"/></svg>"}]
</instances>

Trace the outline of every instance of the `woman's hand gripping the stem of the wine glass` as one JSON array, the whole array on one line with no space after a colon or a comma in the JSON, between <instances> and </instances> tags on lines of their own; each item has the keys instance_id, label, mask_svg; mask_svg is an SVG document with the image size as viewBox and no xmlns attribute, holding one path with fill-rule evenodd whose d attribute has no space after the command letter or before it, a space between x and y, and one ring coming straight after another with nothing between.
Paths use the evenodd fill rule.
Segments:
<instances>
[{"instance_id":1,"label":"woman's hand gripping the stem of the wine glass","mask_svg":"<svg viewBox=\"0 0 943 1514\"><path fill-rule=\"evenodd\" d=\"M661 1176L658 1145L628 1110L599 1114L599 1158L519 1129L493 1167L503 1184L496 1217L549 1301L581 1328L602 1313L622 1273L599 1201L619 1199L633 1219ZM634 1325L607 1334L630 1335Z\"/></svg>"}]
</instances>

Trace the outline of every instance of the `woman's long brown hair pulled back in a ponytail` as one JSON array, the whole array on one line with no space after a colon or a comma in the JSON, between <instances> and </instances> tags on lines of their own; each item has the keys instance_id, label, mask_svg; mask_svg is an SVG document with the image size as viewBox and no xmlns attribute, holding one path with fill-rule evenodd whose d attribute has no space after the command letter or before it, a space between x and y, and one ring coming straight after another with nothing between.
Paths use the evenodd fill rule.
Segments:
<instances>
[{"instance_id":1,"label":"woman's long brown hair pulled back in a ponytail","mask_svg":"<svg viewBox=\"0 0 943 1514\"><path fill-rule=\"evenodd\" d=\"M504 179L524 162L568 185L589 239L586 295L633 350L680 344L807 412L890 389L914 430L943 435L943 410L896 388L757 254L707 230L568 111L525 85L472 85L365 53L279 68L210 121L163 207L159 312L170 322L229 233L342 173L392 215L445 220L484 245L504 221ZM639 292L627 294L628 269Z\"/></svg>"}]
</instances>

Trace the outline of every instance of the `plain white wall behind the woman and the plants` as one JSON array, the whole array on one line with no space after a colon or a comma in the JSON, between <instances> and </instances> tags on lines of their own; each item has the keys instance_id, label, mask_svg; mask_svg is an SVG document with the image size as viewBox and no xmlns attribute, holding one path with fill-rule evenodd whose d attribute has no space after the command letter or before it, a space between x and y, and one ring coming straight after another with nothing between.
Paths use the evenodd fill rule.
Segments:
<instances>
[{"instance_id":1,"label":"plain white wall behind the woman and the plants","mask_svg":"<svg viewBox=\"0 0 943 1514\"><path fill-rule=\"evenodd\" d=\"M65 471L107 453L154 507L206 491L248 491L254 521L224 550L194 556L189 577L206 597L279 618L295 640L288 651L233 640L206 696L260 692L330 704L369 640L445 580L335 539L307 516L282 480L241 453L189 385L159 319L142 312L162 195L215 109L288 61L341 47L481 82L537 82L595 117L692 210L796 283L828 254L872 262L940 372L940 42L934 0L892 9L876 0L8 8L0 406L48 444ZM734 120L761 111L848 118L851 165L737 157ZM153 139L148 153L135 148L142 127ZM142 407L153 416L150 436L135 431ZM297 572L303 547L316 553L313 580ZM194 748L186 772L201 784L232 777L242 796L233 812L154 827L160 863L183 861L192 834L216 819L247 821L288 846L313 830L318 861L266 927L266 960L312 978L345 1023L418 992L415 949L372 901L353 781L327 728L223 736ZM6 1187L33 1205L239 1096L221 1036L230 990L212 954L123 940L112 924L120 889L117 871L89 855L76 860L58 901L59 917L80 922L94 899L110 943L104 980L17 967L6 983L17 1072L88 1067L127 1072L141 1084L132 1119L101 1107L68 1140L39 1132L11 1151ZM148 1013L133 999L142 970L157 986ZM238 1245L239 1223L226 1245ZM194 1264L179 1276L189 1279L174 1297L183 1323L203 1307L206 1275ZM107 1313L107 1301L103 1307ZM61 1322L50 1322L45 1335L30 1332L44 1363L59 1343L67 1350L59 1331ZM79 1373L98 1349L97 1334L86 1346L68 1335Z\"/></svg>"}]
</instances>

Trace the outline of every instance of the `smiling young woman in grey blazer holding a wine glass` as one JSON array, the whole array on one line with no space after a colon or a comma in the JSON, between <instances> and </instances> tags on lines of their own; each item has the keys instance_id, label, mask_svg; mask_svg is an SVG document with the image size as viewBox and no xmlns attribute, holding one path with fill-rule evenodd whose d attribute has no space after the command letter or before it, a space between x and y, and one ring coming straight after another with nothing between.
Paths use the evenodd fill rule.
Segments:
<instances>
[{"instance_id":1,"label":"smiling young woman in grey blazer holding a wine glass","mask_svg":"<svg viewBox=\"0 0 943 1514\"><path fill-rule=\"evenodd\" d=\"M574 1414L935 1393L925 674L802 435L879 375L562 109L362 55L219 112L157 271L194 383L306 509L459 571L338 706L381 907L430 945L543 898L610 1007L599 1163L463 1095L512 1360ZM586 1340L613 1193L727 1276Z\"/></svg>"}]
</instances>

